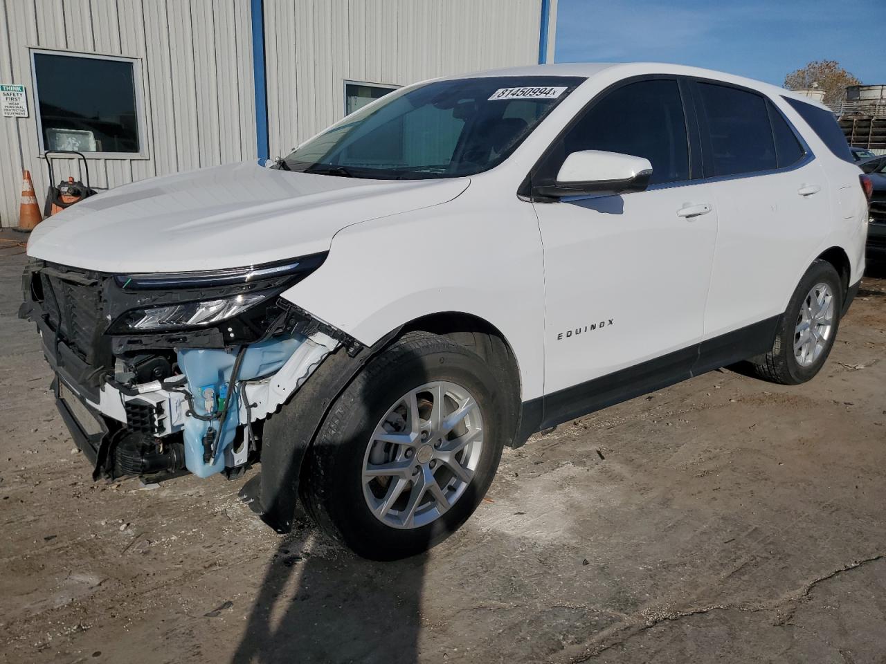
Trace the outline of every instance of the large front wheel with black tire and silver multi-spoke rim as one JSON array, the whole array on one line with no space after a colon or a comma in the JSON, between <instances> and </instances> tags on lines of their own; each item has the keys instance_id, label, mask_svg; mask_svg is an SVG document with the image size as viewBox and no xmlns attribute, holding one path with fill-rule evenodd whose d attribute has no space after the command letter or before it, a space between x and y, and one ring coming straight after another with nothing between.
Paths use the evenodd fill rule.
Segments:
<instances>
[{"instance_id":1,"label":"large front wheel with black tire and silver multi-spoke rim","mask_svg":"<svg viewBox=\"0 0 886 664\"><path fill-rule=\"evenodd\" d=\"M371 560L406 558L441 542L486 494L512 429L498 384L494 369L444 336L412 332L401 337L363 367L323 421L302 476L307 512L331 537ZM416 398L408 398L416 390ZM439 412L455 413L437 418L438 429L431 426L435 403L443 408ZM455 429L440 434L468 408ZM425 439L426 434L431 437ZM389 436L399 441L417 437L394 443ZM461 452L447 452L459 444L464 444ZM452 456L428 460L431 454ZM455 463L462 467L461 477L451 470ZM396 464L414 466L403 475L367 479ZM417 473L416 467L421 468ZM413 499L422 487L424 496ZM400 498L393 500L398 488Z\"/></svg>"}]
</instances>

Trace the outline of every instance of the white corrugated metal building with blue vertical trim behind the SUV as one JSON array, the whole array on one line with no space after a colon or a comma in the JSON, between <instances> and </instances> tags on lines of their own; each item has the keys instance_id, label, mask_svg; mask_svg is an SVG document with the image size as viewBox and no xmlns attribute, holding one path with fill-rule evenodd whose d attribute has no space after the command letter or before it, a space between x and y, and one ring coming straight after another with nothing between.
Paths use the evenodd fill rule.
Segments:
<instances>
[{"instance_id":1,"label":"white corrugated metal building with blue vertical trim behind the SUV","mask_svg":"<svg viewBox=\"0 0 886 664\"><path fill-rule=\"evenodd\" d=\"M0 118L0 223L18 223L22 168L41 203L48 185L41 55L131 64L138 148L87 153L92 186L105 189L253 159L265 142L284 155L343 117L346 82L396 87L553 60L554 17L556 0L0 0L0 83L25 85L28 107ZM80 175L74 161L55 164L57 181Z\"/></svg>"}]
</instances>

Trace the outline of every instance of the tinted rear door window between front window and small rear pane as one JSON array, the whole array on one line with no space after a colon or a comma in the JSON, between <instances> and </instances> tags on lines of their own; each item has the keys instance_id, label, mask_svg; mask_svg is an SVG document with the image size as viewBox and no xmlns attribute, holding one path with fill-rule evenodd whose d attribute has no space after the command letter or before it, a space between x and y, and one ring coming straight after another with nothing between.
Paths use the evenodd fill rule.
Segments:
<instances>
[{"instance_id":1,"label":"tinted rear door window between front window and small rear pane","mask_svg":"<svg viewBox=\"0 0 886 664\"><path fill-rule=\"evenodd\" d=\"M714 176L777 167L764 97L714 83L699 83L698 90L711 136Z\"/></svg>"}]
</instances>

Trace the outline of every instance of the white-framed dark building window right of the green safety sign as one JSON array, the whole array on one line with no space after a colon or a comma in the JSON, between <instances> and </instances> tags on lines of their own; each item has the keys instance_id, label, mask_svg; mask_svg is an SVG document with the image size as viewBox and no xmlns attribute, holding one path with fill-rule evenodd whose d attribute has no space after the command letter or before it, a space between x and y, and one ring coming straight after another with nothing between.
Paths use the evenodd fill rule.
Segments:
<instances>
[{"instance_id":1,"label":"white-framed dark building window right of the green safety sign","mask_svg":"<svg viewBox=\"0 0 886 664\"><path fill-rule=\"evenodd\" d=\"M138 61L32 50L41 151L143 151Z\"/></svg>"}]
</instances>

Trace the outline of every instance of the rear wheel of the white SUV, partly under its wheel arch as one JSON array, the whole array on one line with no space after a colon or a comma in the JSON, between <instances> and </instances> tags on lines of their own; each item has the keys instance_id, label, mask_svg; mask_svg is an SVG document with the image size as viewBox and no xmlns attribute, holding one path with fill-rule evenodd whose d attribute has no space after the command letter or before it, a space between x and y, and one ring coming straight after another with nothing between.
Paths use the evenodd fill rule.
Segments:
<instances>
[{"instance_id":1,"label":"rear wheel of the white SUV, partly under its wheel arch","mask_svg":"<svg viewBox=\"0 0 886 664\"><path fill-rule=\"evenodd\" d=\"M752 360L757 374L784 385L797 385L818 374L834 345L842 309L839 274L827 261L816 260L790 298L772 350Z\"/></svg>"}]
</instances>

